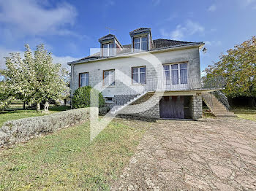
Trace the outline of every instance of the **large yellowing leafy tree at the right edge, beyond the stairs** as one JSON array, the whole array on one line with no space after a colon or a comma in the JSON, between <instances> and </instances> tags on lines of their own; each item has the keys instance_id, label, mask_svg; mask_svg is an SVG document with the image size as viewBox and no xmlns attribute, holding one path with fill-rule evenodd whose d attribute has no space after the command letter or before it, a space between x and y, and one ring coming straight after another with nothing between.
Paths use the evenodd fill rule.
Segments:
<instances>
[{"instance_id":1,"label":"large yellowing leafy tree at the right edge, beyond the stairs","mask_svg":"<svg viewBox=\"0 0 256 191\"><path fill-rule=\"evenodd\" d=\"M205 71L206 84L211 79L221 79L219 83L225 86L223 91L227 96L246 96L253 101L256 97L256 36L227 50L226 55L220 55L219 61Z\"/></svg>"}]
</instances>

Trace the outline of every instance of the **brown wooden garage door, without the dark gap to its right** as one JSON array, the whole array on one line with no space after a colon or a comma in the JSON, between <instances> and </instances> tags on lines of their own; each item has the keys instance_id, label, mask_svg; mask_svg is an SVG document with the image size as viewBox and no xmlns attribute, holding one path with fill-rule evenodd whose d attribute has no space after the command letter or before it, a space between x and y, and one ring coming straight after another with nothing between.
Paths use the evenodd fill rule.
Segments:
<instances>
[{"instance_id":1,"label":"brown wooden garage door, without the dark gap to its right","mask_svg":"<svg viewBox=\"0 0 256 191\"><path fill-rule=\"evenodd\" d=\"M184 119L184 97L162 97L160 100L160 117L166 119Z\"/></svg>"}]
</instances>

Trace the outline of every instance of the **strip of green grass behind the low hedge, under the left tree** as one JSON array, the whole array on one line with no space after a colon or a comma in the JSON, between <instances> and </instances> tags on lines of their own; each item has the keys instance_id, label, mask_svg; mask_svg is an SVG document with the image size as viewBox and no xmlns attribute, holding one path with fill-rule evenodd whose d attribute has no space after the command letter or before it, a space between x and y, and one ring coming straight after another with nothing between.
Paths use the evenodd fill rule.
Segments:
<instances>
[{"instance_id":1,"label":"strip of green grass behind the low hedge, under the left tree","mask_svg":"<svg viewBox=\"0 0 256 191\"><path fill-rule=\"evenodd\" d=\"M61 112L69 109L69 106L53 106L49 108L49 114L54 112ZM4 122L8 120L18 120L26 117L37 117L45 115L42 112L37 112L35 110L16 110L16 111L4 111L0 112L0 128Z\"/></svg>"}]
</instances>

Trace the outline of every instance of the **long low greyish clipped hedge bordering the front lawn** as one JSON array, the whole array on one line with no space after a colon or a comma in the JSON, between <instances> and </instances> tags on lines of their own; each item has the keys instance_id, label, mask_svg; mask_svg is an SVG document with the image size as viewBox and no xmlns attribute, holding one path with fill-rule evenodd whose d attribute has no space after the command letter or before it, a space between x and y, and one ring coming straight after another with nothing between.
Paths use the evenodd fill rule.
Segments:
<instances>
[{"instance_id":1,"label":"long low greyish clipped hedge bordering the front lawn","mask_svg":"<svg viewBox=\"0 0 256 191\"><path fill-rule=\"evenodd\" d=\"M89 120L90 109L97 109L96 113L98 113L98 108L72 109L41 117L4 122L4 125L0 128L0 147L27 141L40 134L52 133L60 128L67 128Z\"/></svg>"}]
</instances>

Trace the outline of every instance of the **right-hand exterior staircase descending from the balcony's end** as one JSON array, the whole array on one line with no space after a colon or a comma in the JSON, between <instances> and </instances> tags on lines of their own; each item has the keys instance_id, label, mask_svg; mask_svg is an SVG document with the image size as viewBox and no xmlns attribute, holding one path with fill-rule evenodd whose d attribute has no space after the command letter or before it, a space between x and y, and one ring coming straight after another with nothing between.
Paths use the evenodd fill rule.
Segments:
<instances>
[{"instance_id":1,"label":"right-hand exterior staircase descending from the balcony's end","mask_svg":"<svg viewBox=\"0 0 256 191\"><path fill-rule=\"evenodd\" d=\"M212 93L202 93L203 101L216 117L237 117L233 112L229 112L222 102Z\"/></svg>"}]
</instances>

